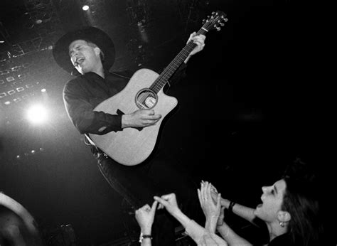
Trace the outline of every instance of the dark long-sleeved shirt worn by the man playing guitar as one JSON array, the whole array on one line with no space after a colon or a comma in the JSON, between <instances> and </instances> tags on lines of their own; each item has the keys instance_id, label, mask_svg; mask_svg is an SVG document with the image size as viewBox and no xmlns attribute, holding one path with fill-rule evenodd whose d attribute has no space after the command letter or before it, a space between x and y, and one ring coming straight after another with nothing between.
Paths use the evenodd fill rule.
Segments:
<instances>
[{"instance_id":1,"label":"dark long-sleeved shirt worn by the man playing guitar","mask_svg":"<svg viewBox=\"0 0 337 246\"><path fill-rule=\"evenodd\" d=\"M176 83L186 75L183 63L170 82ZM63 89L65 108L71 121L81 134L106 134L122 130L122 115L94 111L95 107L124 89L133 73L109 73L105 78L86 73L68 81Z\"/></svg>"}]
</instances>

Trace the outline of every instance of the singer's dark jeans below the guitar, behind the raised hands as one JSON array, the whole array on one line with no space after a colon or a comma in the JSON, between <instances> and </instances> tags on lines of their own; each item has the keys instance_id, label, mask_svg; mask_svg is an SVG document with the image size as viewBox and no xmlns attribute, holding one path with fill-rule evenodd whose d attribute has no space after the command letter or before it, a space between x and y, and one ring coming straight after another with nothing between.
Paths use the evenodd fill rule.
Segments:
<instances>
[{"instance_id":1,"label":"singer's dark jeans below the guitar, behind the raised hands","mask_svg":"<svg viewBox=\"0 0 337 246\"><path fill-rule=\"evenodd\" d=\"M124 166L103 155L97 157L102 175L134 210L146 203L151 206L154 196L175 193L179 207L189 218L198 220L203 213L193 178L163 152L156 151L137 166ZM156 210L152 245L175 245L175 224L176 220L166 210Z\"/></svg>"}]
</instances>

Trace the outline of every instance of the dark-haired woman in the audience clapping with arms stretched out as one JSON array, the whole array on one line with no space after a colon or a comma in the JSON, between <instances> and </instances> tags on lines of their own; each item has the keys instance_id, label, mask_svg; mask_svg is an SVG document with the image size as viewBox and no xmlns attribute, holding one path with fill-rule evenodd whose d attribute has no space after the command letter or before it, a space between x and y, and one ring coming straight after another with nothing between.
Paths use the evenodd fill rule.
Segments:
<instances>
[{"instance_id":1,"label":"dark-haired woman in the audience clapping with arms stretched out","mask_svg":"<svg viewBox=\"0 0 337 246\"><path fill-rule=\"evenodd\" d=\"M220 211L215 211L214 206L218 191L210 183L202 182L198 193L205 194L205 199L200 200L200 204L206 221L216 218L214 215L220 213L216 230L228 245L253 244L235 233L223 221L225 208L253 225L258 226L264 222L269 232L269 240L262 243L264 245L319 245L323 225L319 217L317 188L314 185L314 176L303 174L286 173L272 186L263 186L262 203L257 208L247 208L221 198Z\"/></svg>"}]
</instances>

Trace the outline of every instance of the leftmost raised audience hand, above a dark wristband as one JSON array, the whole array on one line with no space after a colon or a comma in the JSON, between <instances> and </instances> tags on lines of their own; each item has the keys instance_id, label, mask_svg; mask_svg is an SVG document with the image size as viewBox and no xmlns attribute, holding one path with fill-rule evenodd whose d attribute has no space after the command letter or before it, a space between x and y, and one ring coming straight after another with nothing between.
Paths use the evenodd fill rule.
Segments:
<instances>
[{"instance_id":1,"label":"leftmost raised audience hand, above a dark wristband","mask_svg":"<svg viewBox=\"0 0 337 246\"><path fill-rule=\"evenodd\" d=\"M154 223L154 214L156 213L157 204L158 202L155 200L154 203L152 203L152 207L150 207L149 204L146 204L135 212L136 220L143 234L151 234L151 227Z\"/></svg>"}]
</instances>

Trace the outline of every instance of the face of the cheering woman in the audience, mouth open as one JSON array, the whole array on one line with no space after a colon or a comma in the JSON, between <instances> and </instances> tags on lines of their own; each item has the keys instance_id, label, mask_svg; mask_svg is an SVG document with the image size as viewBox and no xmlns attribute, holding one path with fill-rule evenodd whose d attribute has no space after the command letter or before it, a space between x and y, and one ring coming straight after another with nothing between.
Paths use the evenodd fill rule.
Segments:
<instances>
[{"instance_id":1,"label":"face of the cheering woman in the audience, mouth open","mask_svg":"<svg viewBox=\"0 0 337 246\"><path fill-rule=\"evenodd\" d=\"M254 214L257 218L266 222L273 222L277 220L277 212L281 209L283 203L283 196L286 191L286 182L281 179L272 186L262 187L262 204L257 205Z\"/></svg>"}]
</instances>

